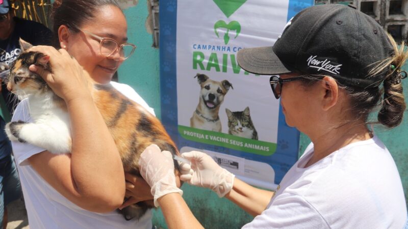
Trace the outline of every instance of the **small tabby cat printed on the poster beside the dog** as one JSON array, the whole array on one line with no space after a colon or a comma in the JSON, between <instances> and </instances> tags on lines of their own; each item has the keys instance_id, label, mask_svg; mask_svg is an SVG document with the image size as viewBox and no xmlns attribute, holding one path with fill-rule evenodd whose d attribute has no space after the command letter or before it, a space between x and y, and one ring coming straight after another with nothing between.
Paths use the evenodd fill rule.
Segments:
<instances>
[{"instance_id":1,"label":"small tabby cat printed on the poster beside the dog","mask_svg":"<svg viewBox=\"0 0 408 229\"><path fill-rule=\"evenodd\" d=\"M253 126L249 107L246 107L244 111L232 112L227 108L225 111L228 117L229 134L258 140L258 132Z\"/></svg>"}]
</instances>

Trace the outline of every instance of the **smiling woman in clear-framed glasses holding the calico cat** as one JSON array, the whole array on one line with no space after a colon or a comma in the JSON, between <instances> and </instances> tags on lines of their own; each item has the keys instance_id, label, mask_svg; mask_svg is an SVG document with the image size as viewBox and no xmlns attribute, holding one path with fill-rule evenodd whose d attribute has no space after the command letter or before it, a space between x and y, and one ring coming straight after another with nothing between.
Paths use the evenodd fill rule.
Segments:
<instances>
[{"instance_id":1,"label":"smiling woman in clear-framed glasses holding the calico cat","mask_svg":"<svg viewBox=\"0 0 408 229\"><path fill-rule=\"evenodd\" d=\"M64 99L71 119L72 152L57 155L13 142L30 227L151 228L150 211L129 221L115 211L125 195L124 171L83 76L85 69L96 82L110 83L134 51L135 46L126 42L124 14L114 0L63 0L54 3L52 19L62 49L36 46L32 50L49 56L53 73L34 65L30 70ZM112 85L153 112L128 85ZM13 121L30 122L28 107L27 100L20 102ZM148 190L139 198L151 199Z\"/></svg>"}]
</instances>

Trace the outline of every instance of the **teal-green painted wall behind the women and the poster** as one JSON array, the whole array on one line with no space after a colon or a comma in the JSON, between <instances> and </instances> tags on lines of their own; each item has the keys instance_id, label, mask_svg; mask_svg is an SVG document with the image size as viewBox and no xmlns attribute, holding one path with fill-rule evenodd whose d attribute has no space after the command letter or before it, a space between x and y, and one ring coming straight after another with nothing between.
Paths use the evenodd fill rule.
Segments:
<instances>
[{"instance_id":1,"label":"teal-green painted wall behind the women and the poster","mask_svg":"<svg viewBox=\"0 0 408 229\"><path fill-rule=\"evenodd\" d=\"M145 21L148 15L147 1L140 1L136 7L125 10L130 42L138 46L135 54L119 70L119 82L131 85L155 109L160 118L159 50L152 48L152 36L146 32ZM405 66L408 69L408 65ZM405 98L408 100L408 79L403 80ZM384 141L396 161L408 203L408 113L399 127L385 132L375 127L375 133ZM310 140L301 135L299 155ZM379 181L380 182L380 181ZM240 228L252 217L227 199L218 198L212 191L184 184L183 197L194 215L205 228ZM183 216L180 216L183 217ZM154 225L166 228L160 209L154 211Z\"/></svg>"}]
</instances>

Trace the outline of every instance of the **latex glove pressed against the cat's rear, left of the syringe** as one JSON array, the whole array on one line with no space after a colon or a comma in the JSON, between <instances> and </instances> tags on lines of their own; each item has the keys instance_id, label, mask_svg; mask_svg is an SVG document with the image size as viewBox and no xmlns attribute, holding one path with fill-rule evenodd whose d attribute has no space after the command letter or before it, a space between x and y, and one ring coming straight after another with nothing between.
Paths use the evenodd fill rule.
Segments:
<instances>
[{"instance_id":1,"label":"latex glove pressed against the cat's rear, left of the syringe","mask_svg":"<svg viewBox=\"0 0 408 229\"><path fill-rule=\"evenodd\" d=\"M165 194L183 191L177 188L174 176L174 162L169 151L161 151L157 145L148 146L140 155L140 175L150 185L155 206L159 207L157 199Z\"/></svg>"}]
</instances>

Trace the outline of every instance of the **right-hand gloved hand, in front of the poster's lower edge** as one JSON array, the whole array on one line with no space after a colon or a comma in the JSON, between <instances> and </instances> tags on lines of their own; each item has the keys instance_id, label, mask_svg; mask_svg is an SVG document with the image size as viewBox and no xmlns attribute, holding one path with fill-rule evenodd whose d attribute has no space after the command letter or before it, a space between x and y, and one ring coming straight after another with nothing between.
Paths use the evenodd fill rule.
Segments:
<instances>
[{"instance_id":1,"label":"right-hand gloved hand, in front of the poster's lower edge","mask_svg":"<svg viewBox=\"0 0 408 229\"><path fill-rule=\"evenodd\" d=\"M182 157L190 160L191 166L187 163L180 165L180 180L194 186L210 188L219 197L231 191L235 175L221 168L212 157L198 151L183 153Z\"/></svg>"}]
</instances>

